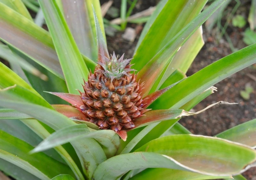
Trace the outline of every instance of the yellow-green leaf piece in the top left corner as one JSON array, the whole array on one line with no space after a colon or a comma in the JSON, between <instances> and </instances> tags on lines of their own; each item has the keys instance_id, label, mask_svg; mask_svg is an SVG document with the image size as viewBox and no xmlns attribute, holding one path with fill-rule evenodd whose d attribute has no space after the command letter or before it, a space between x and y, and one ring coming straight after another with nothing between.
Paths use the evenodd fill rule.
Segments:
<instances>
[{"instance_id":1,"label":"yellow-green leaf piece in the top left corner","mask_svg":"<svg viewBox=\"0 0 256 180\"><path fill-rule=\"evenodd\" d=\"M26 6L23 4L21 0L0 0L0 2L17 11L18 13L28 18L29 20L33 21Z\"/></svg>"}]
</instances>

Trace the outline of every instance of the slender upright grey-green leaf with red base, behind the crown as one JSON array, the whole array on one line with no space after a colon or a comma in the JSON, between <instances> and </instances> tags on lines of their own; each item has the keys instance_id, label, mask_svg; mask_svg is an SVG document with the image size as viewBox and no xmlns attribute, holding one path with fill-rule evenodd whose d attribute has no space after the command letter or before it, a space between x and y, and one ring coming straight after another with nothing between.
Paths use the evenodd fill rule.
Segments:
<instances>
[{"instance_id":1,"label":"slender upright grey-green leaf with red base, behind the crown","mask_svg":"<svg viewBox=\"0 0 256 180\"><path fill-rule=\"evenodd\" d=\"M93 17L95 21L95 26L96 26L96 34L97 34L97 44L98 44L98 61L102 62L104 56L109 57L108 54L108 48L107 48L107 43L103 37L103 34L100 29L100 23L98 21L98 18L96 16L96 13L93 9Z\"/></svg>"}]
</instances>

